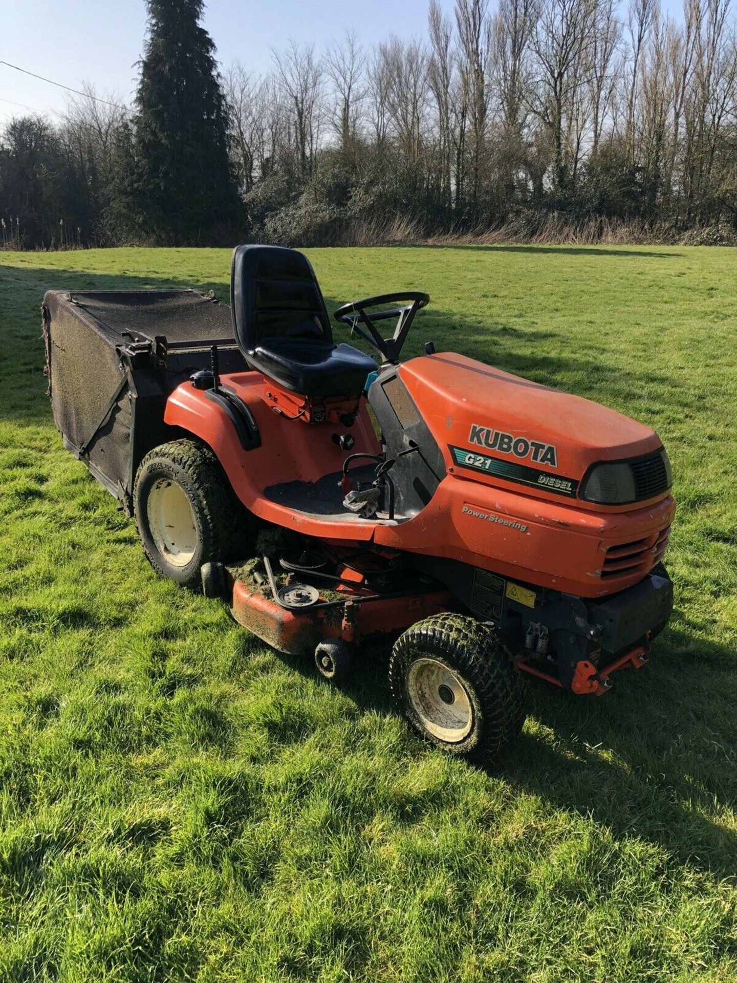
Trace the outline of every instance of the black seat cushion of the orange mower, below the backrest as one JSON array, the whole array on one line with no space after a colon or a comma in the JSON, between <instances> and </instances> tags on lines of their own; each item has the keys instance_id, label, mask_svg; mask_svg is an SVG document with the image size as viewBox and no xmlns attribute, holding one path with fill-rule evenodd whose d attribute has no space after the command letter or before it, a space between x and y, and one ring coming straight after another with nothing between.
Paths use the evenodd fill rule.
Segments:
<instances>
[{"instance_id":1,"label":"black seat cushion of the orange mower, below the backrest","mask_svg":"<svg viewBox=\"0 0 737 983\"><path fill-rule=\"evenodd\" d=\"M316 338L269 338L247 356L249 365L303 396L362 392L376 363L351 345Z\"/></svg>"}]
</instances>

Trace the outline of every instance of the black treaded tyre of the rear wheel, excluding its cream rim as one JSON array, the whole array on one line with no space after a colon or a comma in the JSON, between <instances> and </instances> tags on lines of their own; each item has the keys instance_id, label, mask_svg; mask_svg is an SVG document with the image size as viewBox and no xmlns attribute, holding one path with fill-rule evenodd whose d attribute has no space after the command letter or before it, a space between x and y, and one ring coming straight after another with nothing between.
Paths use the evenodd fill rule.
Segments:
<instances>
[{"instance_id":1,"label":"black treaded tyre of the rear wheel, excluding its cream rim","mask_svg":"<svg viewBox=\"0 0 737 983\"><path fill-rule=\"evenodd\" d=\"M185 493L192 510L195 536L192 557L177 565L155 542L148 514L155 489L173 483ZM156 492L154 492L156 493ZM249 555L253 539L250 513L236 497L209 447L194 440L172 440L149 451L141 462L134 488L134 511L143 549L153 569L195 590L202 589L204 563L225 562ZM189 554L189 551L188 551Z\"/></svg>"}]
</instances>

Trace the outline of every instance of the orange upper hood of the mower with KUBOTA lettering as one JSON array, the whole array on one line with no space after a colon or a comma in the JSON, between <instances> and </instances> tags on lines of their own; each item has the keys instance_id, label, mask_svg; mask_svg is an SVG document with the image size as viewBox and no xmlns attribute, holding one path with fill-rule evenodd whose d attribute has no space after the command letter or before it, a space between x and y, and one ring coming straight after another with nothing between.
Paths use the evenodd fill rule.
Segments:
<instances>
[{"instance_id":1,"label":"orange upper hood of the mower with KUBOTA lettering","mask_svg":"<svg viewBox=\"0 0 737 983\"><path fill-rule=\"evenodd\" d=\"M463 355L423 356L399 374L453 470L461 455L475 452L509 462L515 473L535 473L529 484L540 491L570 494L566 480L578 483L595 462L662 446L654 431L621 413Z\"/></svg>"}]
</instances>

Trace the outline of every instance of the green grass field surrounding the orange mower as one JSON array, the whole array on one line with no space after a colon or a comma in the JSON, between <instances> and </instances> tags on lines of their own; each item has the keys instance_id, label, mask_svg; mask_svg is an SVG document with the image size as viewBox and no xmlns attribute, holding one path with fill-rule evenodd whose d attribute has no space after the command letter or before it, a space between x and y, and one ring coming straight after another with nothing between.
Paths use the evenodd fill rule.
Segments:
<instances>
[{"instance_id":1,"label":"green grass field surrounding the orange mower","mask_svg":"<svg viewBox=\"0 0 737 983\"><path fill-rule=\"evenodd\" d=\"M157 580L63 450L51 287L198 285L224 250L0 254L0 979L737 979L737 251L315 250L329 303L654 427L676 613L603 699L529 687L492 773Z\"/></svg>"}]
</instances>

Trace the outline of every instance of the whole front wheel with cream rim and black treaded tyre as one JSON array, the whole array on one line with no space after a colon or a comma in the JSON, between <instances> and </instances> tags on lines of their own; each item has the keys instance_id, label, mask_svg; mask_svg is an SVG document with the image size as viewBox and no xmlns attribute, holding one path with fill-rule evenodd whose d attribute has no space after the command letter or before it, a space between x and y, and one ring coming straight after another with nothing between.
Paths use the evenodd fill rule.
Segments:
<instances>
[{"instance_id":1,"label":"whole front wheel with cream rim and black treaded tyre","mask_svg":"<svg viewBox=\"0 0 737 983\"><path fill-rule=\"evenodd\" d=\"M421 737L449 754L493 760L522 729L522 687L493 629L435 614L409 628L389 662L397 708Z\"/></svg>"}]
</instances>

